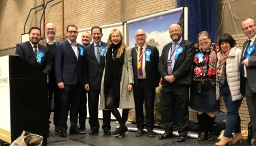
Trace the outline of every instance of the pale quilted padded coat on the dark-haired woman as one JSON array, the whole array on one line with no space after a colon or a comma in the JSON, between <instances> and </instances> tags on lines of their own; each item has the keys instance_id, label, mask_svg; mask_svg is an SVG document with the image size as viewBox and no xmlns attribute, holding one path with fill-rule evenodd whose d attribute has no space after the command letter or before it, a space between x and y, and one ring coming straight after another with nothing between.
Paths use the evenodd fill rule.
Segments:
<instances>
[{"instance_id":1,"label":"pale quilted padded coat on the dark-haired woman","mask_svg":"<svg viewBox=\"0 0 256 146\"><path fill-rule=\"evenodd\" d=\"M229 56L227 57L226 74L227 83L229 84L229 90L231 92L232 101L242 99L240 93L240 58L242 50L236 46L231 48ZM218 64L220 60L220 52L217 54ZM220 93L220 87L216 85L217 100L222 96Z\"/></svg>"}]
</instances>

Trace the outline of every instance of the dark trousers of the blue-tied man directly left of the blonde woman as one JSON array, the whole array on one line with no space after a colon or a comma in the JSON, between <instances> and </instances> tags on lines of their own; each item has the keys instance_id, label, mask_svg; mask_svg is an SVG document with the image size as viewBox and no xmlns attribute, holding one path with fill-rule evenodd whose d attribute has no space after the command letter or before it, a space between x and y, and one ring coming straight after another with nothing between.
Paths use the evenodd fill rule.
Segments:
<instances>
[{"instance_id":1,"label":"dark trousers of the blue-tied man directly left of the blonde woman","mask_svg":"<svg viewBox=\"0 0 256 146\"><path fill-rule=\"evenodd\" d=\"M98 119L98 112L99 112L99 94L100 89L90 89L88 91L88 106L89 106L89 123L91 130L99 130L99 119ZM110 110L103 110L103 130L110 130Z\"/></svg>"}]
</instances>

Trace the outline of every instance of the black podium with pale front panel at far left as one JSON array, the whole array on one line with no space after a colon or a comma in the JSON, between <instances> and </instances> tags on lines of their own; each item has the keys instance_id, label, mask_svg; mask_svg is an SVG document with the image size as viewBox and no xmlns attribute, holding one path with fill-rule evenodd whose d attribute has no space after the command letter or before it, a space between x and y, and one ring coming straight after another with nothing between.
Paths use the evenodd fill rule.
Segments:
<instances>
[{"instance_id":1,"label":"black podium with pale front panel at far left","mask_svg":"<svg viewBox=\"0 0 256 146\"><path fill-rule=\"evenodd\" d=\"M47 74L18 56L0 57L0 139L12 143L23 130L49 134Z\"/></svg>"}]
</instances>

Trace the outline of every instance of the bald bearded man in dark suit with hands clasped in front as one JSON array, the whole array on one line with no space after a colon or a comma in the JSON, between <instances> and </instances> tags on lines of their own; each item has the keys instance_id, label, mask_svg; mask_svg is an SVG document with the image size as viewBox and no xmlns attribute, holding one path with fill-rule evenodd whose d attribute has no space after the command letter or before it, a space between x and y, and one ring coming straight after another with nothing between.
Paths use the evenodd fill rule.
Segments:
<instances>
[{"instance_id":1,"label":"bald bearded man in dark suit with hands clasped in front","mask_svg":"<svg viewBox=\"0 0 256 146\"><path fill-rule=\"evenodd\" d=\"M178 142L184 142L188 135L188 88L192 85L194 44L181 37L182 29L178 24L170 25L169 33L172 42L164 46L158 64L162 76L165 129L159 139L172 138L172 126L177 117Z\"/></svg>"}]
</instances>

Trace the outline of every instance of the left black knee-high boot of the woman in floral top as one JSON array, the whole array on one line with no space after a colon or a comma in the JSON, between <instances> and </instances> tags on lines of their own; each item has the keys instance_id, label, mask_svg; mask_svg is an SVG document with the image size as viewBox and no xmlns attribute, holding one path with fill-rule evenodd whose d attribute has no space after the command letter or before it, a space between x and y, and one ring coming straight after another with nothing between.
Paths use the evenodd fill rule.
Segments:
<instances>
[{"instance_id":1,"label":"left black knee-high boot of the woman in floral top","mask_svg":"<svg viewBox=\"0 0 256 146\"><path fill-rule=\"evenodd\" d=\"M197 138L197 141L205 141L208 138L208 132L207 132L207 113L202 113L199 115L197 113L197 120L199 121L199 136Z\"/></svg>"}]
</instances>

